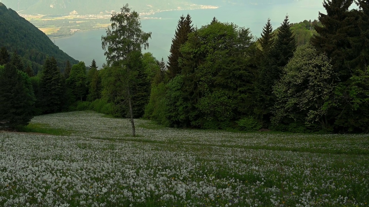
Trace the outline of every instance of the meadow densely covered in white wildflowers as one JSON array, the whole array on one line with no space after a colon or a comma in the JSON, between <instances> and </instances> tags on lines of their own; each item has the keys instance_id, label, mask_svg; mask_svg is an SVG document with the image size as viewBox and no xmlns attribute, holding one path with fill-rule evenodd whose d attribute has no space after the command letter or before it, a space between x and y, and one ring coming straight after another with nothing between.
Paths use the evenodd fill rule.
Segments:
<instances>
[{"instance_id":1,"label":"meadow densely covered in white wildflowers","mask_svg":"<svg viewBox=\"0 0 369 207\"><path fill-rule=\"evenodd\" d=\"M170 129L94 112L0 133L0 206L369 206L369 136Z\"/></svg>"}]
</instances>

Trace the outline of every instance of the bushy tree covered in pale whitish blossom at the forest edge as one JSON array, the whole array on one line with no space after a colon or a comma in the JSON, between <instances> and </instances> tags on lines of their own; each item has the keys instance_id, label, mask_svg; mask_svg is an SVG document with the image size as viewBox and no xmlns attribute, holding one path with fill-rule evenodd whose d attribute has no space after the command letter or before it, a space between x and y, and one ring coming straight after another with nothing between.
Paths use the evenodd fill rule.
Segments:
<instances>
[{"instance_id":1,"label":"bushy tree covered in pale whitish blossom at the forest edge","mask_svg":"<svg viewBox=\"0 0 369 207\"><path fill-rule=\"evenodd\" d=\"M273 124L283 118L294 121L303 119L308 125L321 123L325 119L327 102L335 87L335 73L328 57L310 44L297 48L294 56L283 68L283 76L273 87L277 97L272 119Z\"/></svg>"}]
</instances>

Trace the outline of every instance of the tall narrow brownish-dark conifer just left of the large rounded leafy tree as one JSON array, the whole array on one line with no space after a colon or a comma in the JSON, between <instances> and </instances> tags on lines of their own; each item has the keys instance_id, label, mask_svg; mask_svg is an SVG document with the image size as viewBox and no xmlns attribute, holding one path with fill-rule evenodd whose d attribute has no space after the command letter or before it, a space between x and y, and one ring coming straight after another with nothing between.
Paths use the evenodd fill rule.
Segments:
<instances>
[{"instance_id":1,"label":"tall narrow brownish-dark conifer just left of the large rounded leafy tree","mask_svg":"<svg viewBox=\"0 0 369 207\"><path fill-rule=\"evenodd\" d=\"M182 15L178 21L175 37L172 39L172 46L170 46L170 55L168 56L168 77L170 79L181 73L179 59L182 55L179 48L186 43L188 34L193 31L191 16L189 14L186 17Z\"/></svg>"}]
</instances>

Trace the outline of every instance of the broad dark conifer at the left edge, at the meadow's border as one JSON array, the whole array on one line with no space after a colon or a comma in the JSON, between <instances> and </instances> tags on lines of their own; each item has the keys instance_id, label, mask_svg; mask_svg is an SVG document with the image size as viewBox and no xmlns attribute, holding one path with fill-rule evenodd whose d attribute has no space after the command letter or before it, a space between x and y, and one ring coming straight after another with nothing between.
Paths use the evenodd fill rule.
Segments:
<instances>
[{"instance_id":1,"label":"broad dark conifer at the left edge, at the meadow's border","mask_svg":"<svg viewBox=\"0 0 369 207\"><path fill-rule=\"evenodd\" d=\"M1 66L3 67L3 66ZM7 63L0 67L0 127L27 125L34 115L35 95L27 74ZM4 126L1 122L4 121Z\"/></svg>"}]
</instances>

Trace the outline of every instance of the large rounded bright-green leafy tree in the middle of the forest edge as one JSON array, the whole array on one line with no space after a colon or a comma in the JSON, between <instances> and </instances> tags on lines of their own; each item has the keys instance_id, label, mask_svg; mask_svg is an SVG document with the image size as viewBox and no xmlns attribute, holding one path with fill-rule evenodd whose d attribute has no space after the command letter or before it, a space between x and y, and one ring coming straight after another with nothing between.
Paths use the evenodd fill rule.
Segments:
<instances>
[{"instance_id":1,"label":"large rounded bright-green leafy tree in the middle of the forest edge","mask_svg":"<svg viewBox=\"0 0 369 207\"><path fill-rule=\"evenodd\" d=\"M253 46L249 29L234 24L213 22L189 35L181 48L183 126L226 128L247 113Z\"/></svg>"}]
</instances>

